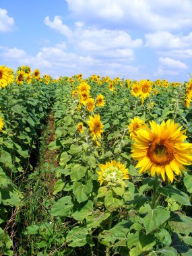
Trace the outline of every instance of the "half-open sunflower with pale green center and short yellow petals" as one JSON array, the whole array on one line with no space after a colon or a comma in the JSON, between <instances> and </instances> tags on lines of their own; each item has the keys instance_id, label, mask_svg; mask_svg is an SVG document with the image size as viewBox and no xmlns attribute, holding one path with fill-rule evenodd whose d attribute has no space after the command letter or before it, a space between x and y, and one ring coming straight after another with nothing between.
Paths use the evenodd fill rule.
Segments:
<instances>
[{"instance_id":1,"label":"half-open sunflower with pale green center and short yellow petals","mask_svg":"<svg viewBox=\"0 0 192 256\"><path fill-rule=\"evenodd\" d=\"M116 183L120 183L123 185L123 180L129 179L128 169L121 162L116 162L115 160L111 160L110 162L106 162L105 164L99 164L100 172L98 172L98 181L100 185L102 183L111 185L115 185Z\"/></svg>"}]
</instances>

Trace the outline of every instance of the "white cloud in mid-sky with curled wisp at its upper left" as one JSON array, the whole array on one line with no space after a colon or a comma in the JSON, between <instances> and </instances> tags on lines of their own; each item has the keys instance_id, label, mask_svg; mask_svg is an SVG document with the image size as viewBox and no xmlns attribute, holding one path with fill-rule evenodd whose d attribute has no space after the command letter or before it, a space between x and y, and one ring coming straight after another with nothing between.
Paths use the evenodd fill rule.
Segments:
<instances>
[{"instance_id":1,"label":"white cloud in mid-sky with curled wisp at its upper left","mask_svg":"<svg viewBox=\"0 0 192 256\"><path fill-rule=\"evenodd\" d=\"M82 55L108 59L124 58L131 61L134 59L133 49L143 44L141 39L133 40L123 30L98 29L91 26L86 28L82 22L76 22L74 30L71 30L63 24L59 16L55 16L53 22L46 17L44 23L63 34L68 44L73 45L75 51Z\"/></svg>"}]
</instances>

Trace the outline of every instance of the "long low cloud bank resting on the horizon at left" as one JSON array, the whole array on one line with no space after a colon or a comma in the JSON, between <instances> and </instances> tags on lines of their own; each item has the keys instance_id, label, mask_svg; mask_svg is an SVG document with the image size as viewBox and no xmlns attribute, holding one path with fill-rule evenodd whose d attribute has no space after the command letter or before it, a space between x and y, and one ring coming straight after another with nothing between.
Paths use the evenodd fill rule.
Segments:
<instances>
[{"instance_id":1,"label":"long low cloud bank resting on the horizon at left","mask_svg":"<svg viewBox=\"0 0 192 256\"><path fill-rule=\"evenodd\" d=\"M84 77L88 77L93 73L101 76L110 75L110 77L119 76L131 79L135 79L135 77L141 79L142 76L138 67L128 65L123 61L108 61L69 53L65 42L52 47L43 47L35 56L26 54L19 56L18 54L18 59L15 58L15 55L11 59L11 54L8 54L13 52L13 49L3 49L3 51L0 56L5 60L4 63L6 63L7 58L9 58L9 63L12 60L12 68L17 69L20 65L30 65L32 69L39 68L42 74L48 73L53 77L59 77L60 75L71 76L77 73L83 73ZM14 49L14 53L24 53L24 51Z\"/></svg>"}]
</instances>

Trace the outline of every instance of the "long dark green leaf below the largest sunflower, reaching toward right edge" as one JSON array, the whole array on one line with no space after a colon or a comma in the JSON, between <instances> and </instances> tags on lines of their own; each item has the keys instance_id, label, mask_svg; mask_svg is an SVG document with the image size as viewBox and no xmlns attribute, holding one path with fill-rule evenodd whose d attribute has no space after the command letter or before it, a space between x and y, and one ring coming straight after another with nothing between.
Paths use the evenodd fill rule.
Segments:
<instances>
[{"instance_id":1,"label":"long dark green leaf below the largest sunflower, reaching toward right edge","mask_svg":"<svg viewBox=\"0 0 192 256\"><path fill-rule=\"evenodd\" d=\"M172 185L166 185L165 187L159 187L158 191L166 197L170 197L183 205L191 205L189 197L183 191L177 189Z\"/></svg>"}]
</instances>

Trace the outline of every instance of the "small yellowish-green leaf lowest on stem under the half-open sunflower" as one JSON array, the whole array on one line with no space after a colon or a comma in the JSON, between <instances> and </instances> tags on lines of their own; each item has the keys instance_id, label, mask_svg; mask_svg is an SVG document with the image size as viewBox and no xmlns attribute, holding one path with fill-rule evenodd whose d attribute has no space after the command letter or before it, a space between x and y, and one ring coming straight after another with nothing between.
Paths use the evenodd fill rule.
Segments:
<instances>
[{"instance_id":1,"label":"small yellowish-green leaf lowest on stem under the half-open sunflower","mask_svg":"<svg viewBox=\"0 0 192 256\"><path fill-rule=\"evenodd\" d=\"M123 199L119 199L117 196L113 196L113 193L111 192L104 197L104 206L109 212L118 210L120 207L123 206L123 203Z\"/></svg>"}]
</instances>

